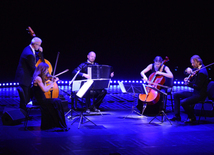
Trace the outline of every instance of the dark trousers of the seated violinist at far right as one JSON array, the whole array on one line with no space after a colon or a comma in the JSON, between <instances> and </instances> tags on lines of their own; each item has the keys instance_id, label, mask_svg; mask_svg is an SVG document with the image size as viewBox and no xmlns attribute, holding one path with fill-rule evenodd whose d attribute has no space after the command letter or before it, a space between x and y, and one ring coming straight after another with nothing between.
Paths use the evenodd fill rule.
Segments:
<instances>
[{"instance_id":1,"label":"dark trousers of the seated violinist at far right","mask_svg":"<svg viewBox=\"0 0 214 155\"><path fill-rule=\"evenodd\" d=\"M204 98L198 94L189 91L179 91L173 94L175 116L180 116L180 106L182 106L188 115L188 118L194 118L194 105Z\"/></svg>"}]
</instances>

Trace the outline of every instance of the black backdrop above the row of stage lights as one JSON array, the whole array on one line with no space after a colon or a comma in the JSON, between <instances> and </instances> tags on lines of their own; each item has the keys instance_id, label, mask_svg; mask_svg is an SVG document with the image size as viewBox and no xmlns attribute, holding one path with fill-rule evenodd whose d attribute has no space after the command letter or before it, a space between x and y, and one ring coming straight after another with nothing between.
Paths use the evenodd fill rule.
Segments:
<instances>
[{"instance_id":1,"label":"black backdrop above the row of stage lights","mask_svg":"<svg viewBox=\"0 0 214 155\"><path fill-rule=\"evenodd\" d=\"M31 26L43 40L44 57L59 78L93 50L96 61L111 65L114 79L140 80L140 71L156 55L168 56L167 66L182 80L190 57L213 62L212 1L1 1L1 82L14 81L20 54L30 43ZM209 74L213 77L212 67Z\"/></svg>"}]
</instances>

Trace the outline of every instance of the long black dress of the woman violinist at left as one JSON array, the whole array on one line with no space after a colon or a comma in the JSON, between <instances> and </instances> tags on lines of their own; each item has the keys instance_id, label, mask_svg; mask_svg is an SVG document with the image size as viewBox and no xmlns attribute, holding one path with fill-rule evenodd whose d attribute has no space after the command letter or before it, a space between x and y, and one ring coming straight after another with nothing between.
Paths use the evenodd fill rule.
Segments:
<instances>
[{"instance_id":1,"label":"long black dress of the woman violinist at left","mask_svg":"<svg viewBox=\"0 0 214 155\"><path fill-rule=\"evenodd\" d=\"M41 106L41 130L67 131L64 110L58 98L46 99L39 86L33 85L33 97Z\"/></svg>"}]
</instances>

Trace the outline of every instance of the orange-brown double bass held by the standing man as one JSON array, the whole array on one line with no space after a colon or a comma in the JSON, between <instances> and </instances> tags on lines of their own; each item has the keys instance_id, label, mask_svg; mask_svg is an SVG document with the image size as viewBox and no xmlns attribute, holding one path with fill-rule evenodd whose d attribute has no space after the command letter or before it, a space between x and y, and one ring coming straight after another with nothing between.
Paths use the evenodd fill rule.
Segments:
<instances>
[{"instance_id":1,"label":"orange-brown double bass held by the standing man","mask_svg":"<svg viewBox=\"0 0 214 155\"><path fill-rule=\"evenodd\" d=\"M31 37L36 37L36 34L34 33L34 31L32 30L32 28L30 26L28 26L27 30L28 30L28 33L30 33ZM49 66L48 72L49 72L49 75L51 75L52 71L53 71L52 65L48 60L44 59L43 53L41 51L39 51L39 60L36 62L35 66L37 67L41 62L45 62L46 64L48 64L48 66ZM52 77L52 76L49 76L49 77ZM48 85L48 82L46 84ZM56 82L54 82L54 86L51 90L49 90L48 92L45 92L45 97L46 98L58 98L59 97L59 87Z\"/></svg>"}]
</instances>

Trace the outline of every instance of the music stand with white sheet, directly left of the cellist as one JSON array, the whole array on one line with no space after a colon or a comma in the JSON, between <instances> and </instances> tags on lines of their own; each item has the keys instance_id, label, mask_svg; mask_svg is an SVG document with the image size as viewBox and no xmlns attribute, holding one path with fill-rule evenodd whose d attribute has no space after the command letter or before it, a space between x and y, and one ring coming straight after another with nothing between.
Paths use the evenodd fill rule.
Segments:
<instances>
[{"instance_id":1,"label":"music stand with white sheet, directly left of the cellist","mask_svg":"<svg viewBox=\"0 0 214 155\"><path fill-rule=\"evenodd\" d=\"M145 93L145 88L143 86L142 83L135 83L135 84L124 84L123 82L118 82L119 83L119 86L120 86L120 89L123 93L133 93L133 104L132 104L132 107L131 107L131 111L130 113L126 116L128 117L131 113L137 113L138 115L140 116L143 116L143 114L139 113L138 111L135 110L136 106L135 106L135 95L136 94L144 94ZM124 119L126 118L124 117Z\"/></svg>"}]
</instances>

